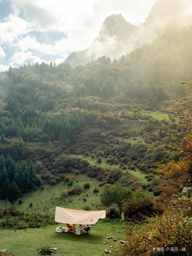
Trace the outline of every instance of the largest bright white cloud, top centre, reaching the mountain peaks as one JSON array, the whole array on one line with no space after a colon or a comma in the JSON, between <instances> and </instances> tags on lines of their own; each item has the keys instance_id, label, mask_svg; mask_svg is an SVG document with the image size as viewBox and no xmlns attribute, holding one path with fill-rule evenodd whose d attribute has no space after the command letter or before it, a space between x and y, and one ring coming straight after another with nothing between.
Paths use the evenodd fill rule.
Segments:
<instances>
[{"instance_id":1,"label":"largest bright white cloud, top centre, reaching the mountain peaks","mask_svg":"<svg viewBox=\"0 0 192 256\"><path fill-rule=\"evenodd\" d=\"M37 31L59 31L67 35L69 51L86 49L98 35L104 20L122 13L126 20L144 22L157 0L12 0L15 13L23 13ZM59 43L58 43L59 46Z\"/></svg>"}]
</instances>

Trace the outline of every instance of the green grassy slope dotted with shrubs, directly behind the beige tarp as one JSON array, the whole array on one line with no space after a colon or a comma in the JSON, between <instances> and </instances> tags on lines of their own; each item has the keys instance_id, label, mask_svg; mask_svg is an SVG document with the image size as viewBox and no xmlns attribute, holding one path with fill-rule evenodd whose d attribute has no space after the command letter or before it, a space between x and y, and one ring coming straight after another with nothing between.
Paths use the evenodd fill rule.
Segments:
<instances>
[{"instance_id":1,"label":"green grassy slope dotted with shrubs, directly behind the beige tarp","mask_svg":"<svg viewBox=\"0 0 192 256\"><path fill-rule=\"evenodd\" d=\"M73 175L71 173L67 176ZM74 184L70 187L67 185L67 182L61 181L55 185L46 184L44 190L38 188L36 191L30 191L27 194L24 194L22 203L19 204L18 201L14 205L19 208L20 211L27 212L44 212L44 213L55 213L54 206L58 205L64 208L70 209L80 209L82 210L83 206L89 205L91 210L95 210L95 204L100 202L99 194L94 194L93 189L95 187L99 188L99 192L102 191L102 187L98 187L99 181L96 179L89 178L86 174L73 175ZM76 183L78 181L78 183ZM84 188L83 184L85 181L90 181L90 188ZM65 185L64 185L65 184ZM80 186L82 192L79 195L69 195L66 198L61 196L62 191L71 190L74 186ZM86 199L84 201L83 199ZM5 202L0 201L1 207L4 208ZM29 205L32 203L32 206ZM8 205L10 203L8 202Z\"/></svg>"}]
</instances>

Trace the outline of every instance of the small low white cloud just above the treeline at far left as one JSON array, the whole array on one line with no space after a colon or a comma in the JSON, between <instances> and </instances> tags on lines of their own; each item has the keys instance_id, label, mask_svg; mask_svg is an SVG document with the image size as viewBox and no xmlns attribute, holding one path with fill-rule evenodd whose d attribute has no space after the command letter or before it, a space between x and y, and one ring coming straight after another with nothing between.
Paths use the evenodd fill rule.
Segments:
<instances>
[{"instance_id":1,"label":"small low white cloud just above the treeline at far left","mask_svg":"<svg viewBox=\"0 0 192 256\"><path fill-rule=\"evenodd\" d=\"M30 62L30 63L35 63L35 62L39 62L41 63L42 61L46 62L46 63L50 63L50 61L45 61L42 60L40 57L38 56L34 56L32 52L28 51L28 52L16 52L13 54L12 57L12 62L9 64L13 67L17 66L17 65L23 65L26 62Z\"/></svg>"}]
</instances>

